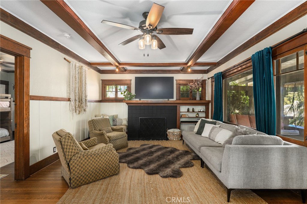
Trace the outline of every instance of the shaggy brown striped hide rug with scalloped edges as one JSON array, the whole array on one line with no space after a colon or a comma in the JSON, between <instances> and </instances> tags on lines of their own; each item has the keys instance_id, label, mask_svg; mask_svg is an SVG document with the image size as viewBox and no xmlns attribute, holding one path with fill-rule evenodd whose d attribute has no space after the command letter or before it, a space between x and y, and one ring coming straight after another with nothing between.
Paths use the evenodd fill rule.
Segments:
<instances>
[{"instance_id":1,"label":"shaggy brown striped hide rug with scalloped edges","mask_svg":"<svg viewBox=\"0 0 307 204\"><path fill-rule=\"evenodd\" d=\"M143 144L140 147L119 152L119 163L129 168L143 169L146 174L159 174L163 178L179 178L183 175L180 168L194 166L191 160L199 160L196 153L162 145Z\"/></svg>"}]
</instances>

